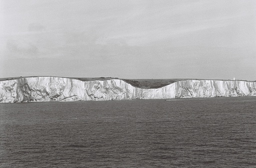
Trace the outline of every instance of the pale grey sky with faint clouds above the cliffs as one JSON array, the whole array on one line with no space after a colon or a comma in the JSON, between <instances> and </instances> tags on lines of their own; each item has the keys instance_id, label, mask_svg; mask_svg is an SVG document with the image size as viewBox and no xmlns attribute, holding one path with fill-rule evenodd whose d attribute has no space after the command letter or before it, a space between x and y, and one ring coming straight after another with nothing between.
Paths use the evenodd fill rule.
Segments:
<instances>
[{"instance_id":1,"label":"pale grey sky with faint clouds above the cliffs","mask_svg":"<svg viewBox=\"0 0 256 168\"><path fill-rule=\"evenodd\" d=\"M256 80L256 0L0 0L0 77Z\"/></svg>"}]
</instances>

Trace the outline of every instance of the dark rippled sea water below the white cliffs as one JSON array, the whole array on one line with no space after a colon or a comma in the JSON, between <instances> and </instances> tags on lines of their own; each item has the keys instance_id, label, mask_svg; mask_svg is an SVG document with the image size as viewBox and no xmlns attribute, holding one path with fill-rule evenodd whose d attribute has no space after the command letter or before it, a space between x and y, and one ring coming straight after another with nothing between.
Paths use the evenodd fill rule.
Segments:
<instances>
[{"instance_id":1,"label":"dark rippled sea water below the white cliffs","mask_svg":"<svg viewBox=\"0 0 256 168\"><path fill-rule=\"evenodd\" d=\"M256 97L0 104L0 168L255 168Z\"/></svg>"}]
</instances>

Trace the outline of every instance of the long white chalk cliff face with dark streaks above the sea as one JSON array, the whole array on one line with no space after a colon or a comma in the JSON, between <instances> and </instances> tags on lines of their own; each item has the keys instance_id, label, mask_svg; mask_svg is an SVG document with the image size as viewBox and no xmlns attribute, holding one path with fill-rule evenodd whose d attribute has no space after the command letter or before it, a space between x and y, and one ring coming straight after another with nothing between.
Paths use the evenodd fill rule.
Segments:
<instances>
[{"instance_id":1,"label":"long white chalk cliff face with dark streaks above the sea","mask_svg":"<svg viewBox=\"0 0 256 168\"><path fill-rule=\"evenodd\" d=\"M185 80L157 89L133 87L120 79L80 81L28 77L0 81L0 103L256 96L256 82Z\"/></svg>"}]
</instances>

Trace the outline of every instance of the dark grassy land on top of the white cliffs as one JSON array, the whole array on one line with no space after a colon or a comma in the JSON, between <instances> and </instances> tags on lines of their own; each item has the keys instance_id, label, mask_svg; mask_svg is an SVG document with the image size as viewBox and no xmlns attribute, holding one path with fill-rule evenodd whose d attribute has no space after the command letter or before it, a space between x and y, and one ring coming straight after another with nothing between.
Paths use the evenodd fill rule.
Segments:
<instances>
[{"instance_id":1,"label":"dark grassy land on top of the white cliffs","mask_svg":"<svg viewBox=\"0 0 256 168\"><path fill-rule=\"evenodd\" d=\"M20 79L20 78L29 78L29 77L39 77L39 76L19 76L19 77L9 77L9 78L0 78L0 81L4 80L14 80L14 79ZM41 76L43 77L43 76ZM44 76L48 77L48 76ZM52 77L57 77L57 76L52 76ZM110 79L119 79L119 78L113 78L113 77L98 77L98 78L84 78L84 77L63 77L63 78L70 78L70 79L76 79L80 81L94 81L94 80L110 80ZM123 80L130 85L142 89L153 89L153 88L160 88L166 85L169 85L174 82L178 81L184 81L184 80L209 80L209 79L120 79ZM221 80L221 81L228 81L224 79L211 79L211 80ZM246 80L239 80L239 81L246 81ZM248 82L256 82L256 81L248 81Z\"/></svg>"}]
</instances>

